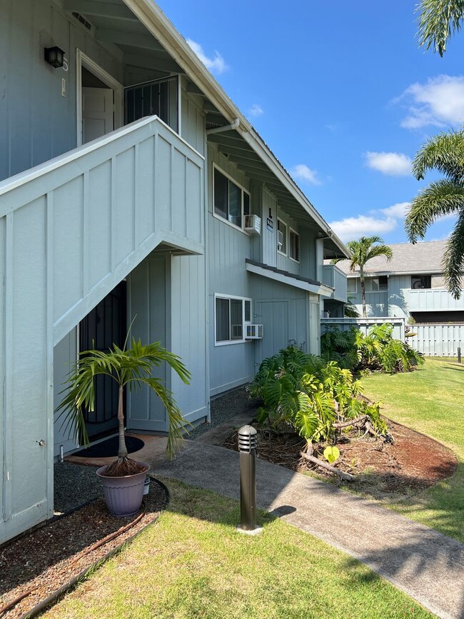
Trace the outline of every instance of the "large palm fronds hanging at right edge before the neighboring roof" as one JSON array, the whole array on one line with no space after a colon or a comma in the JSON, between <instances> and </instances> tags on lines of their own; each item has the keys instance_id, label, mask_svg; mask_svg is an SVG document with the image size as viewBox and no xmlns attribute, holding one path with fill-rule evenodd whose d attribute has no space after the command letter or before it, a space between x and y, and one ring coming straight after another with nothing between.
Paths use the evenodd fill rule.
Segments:
<instances>
[{"instance_id":1,"label":"large palm fronds hanging at right edge before the neighboring roof","mask_svg":"<svg viewBox=\"0 0 464 619\"><path fill-rule=\"evenodd\" d=\"M430 138L413 161L413 175L422 180L428 170L445 175L430 183L411 201L405 218L405 231L411 243L424 238L435 219L456 213L458 221L448 238L443 256L443 273L448 291L461 296L464 266L464 131L448 131Z\"/></svg>"}]
</instances>

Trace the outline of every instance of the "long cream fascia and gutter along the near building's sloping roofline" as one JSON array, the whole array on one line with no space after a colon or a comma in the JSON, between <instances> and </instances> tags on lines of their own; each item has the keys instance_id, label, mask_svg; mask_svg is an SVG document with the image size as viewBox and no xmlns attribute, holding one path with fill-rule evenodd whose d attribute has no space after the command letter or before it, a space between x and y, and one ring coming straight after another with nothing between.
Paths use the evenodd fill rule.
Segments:
<instances>
[{"instance_id":1,"label":"long cream fascia and gutter along the near building's sloping roofline","mask_svg":"<svg viewBox=\"0 0 464 619\"><path fill-rule=\"evenodd\" d=\"M233 104L230 97L223 91L218 82L213 78L211 73L206 69L206 66L198 59L195 52L188 45L183 36L174 28L171 21L167 19L163 11L152 0L123 0L131 11L138 17L141 23L146 26L148 31L158 39L161 45L173 56L176 63L181 66L188 76L193 79L203 94L216 106L218 111L225 116L226 119L233 122L234 119L239 119L238 133L247 142L249 146L261 158L263 163L266 163L272 173L278 178L283 186L285 186L291 195L301 203L309 216L315 221L321 230L331 237L336 243L336 246L341 250L344 256L350 258L350 252L342 241L331 230L328 223L316 211L311 202L306 198L303 191L296 185L293 178L281 166L275 156L268 149L266 144L253 130L253 127L248 122L245 116L241 113L238 107Z\"/></svg>"}]
</instances>

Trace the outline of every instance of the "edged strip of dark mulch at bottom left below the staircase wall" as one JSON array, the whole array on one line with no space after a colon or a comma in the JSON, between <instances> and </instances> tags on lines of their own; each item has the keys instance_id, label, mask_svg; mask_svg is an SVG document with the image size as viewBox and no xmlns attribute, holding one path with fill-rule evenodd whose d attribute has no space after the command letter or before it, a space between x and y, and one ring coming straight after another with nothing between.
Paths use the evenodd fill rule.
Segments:
<instances>
[{"instance_id":1,"label":"edged strip of dark mulch at bottom left below the staircase wall","mask_svg":"<svg viewBox=\"0 0 464 619\"><path fill-rule=\"evenodd\" d=\"M71 465L80 468L79 465ZM95 470L92 471L95 475ZM69 473L71 475L71 473ZM79 475L79 473L78 473ZM121 547L129 538L158 518L168 502L166 488L151 479L138 515L117 518L106 509L104 500L60 516L0 547L1 607L27 593L26 597L1 615L1 619L20 618L62 585ZM96 543L136 520L130 528L99 548Z\"/></svg>"}]
</instances>

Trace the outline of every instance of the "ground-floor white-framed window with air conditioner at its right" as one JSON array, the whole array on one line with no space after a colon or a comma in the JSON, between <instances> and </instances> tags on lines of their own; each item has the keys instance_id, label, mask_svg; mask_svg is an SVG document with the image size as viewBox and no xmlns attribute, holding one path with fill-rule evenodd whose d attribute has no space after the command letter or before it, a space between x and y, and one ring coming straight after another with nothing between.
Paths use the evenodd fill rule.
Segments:
<instances>
[{"instance_id":1,"label":"ground-floor white-framed window with air conditioner at its right","mask_svg":"<svg viewBox=\"0 0 464 619\"><path fill-rule=\"evenodd\" d=\"M245 341L246 325L251 323L251 298L214 295L214 345Z\"/></svg>"}]
</instances>

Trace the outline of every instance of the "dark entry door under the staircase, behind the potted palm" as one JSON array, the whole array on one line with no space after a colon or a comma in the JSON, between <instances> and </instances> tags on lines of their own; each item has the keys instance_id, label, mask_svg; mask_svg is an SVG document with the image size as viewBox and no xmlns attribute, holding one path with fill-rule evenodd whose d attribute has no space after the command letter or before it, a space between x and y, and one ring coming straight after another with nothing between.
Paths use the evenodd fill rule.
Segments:
<instances>
[{"instance_id":1,"label":"dark entry door under the staircase, behind the potted palm","mask_svg":"<svg viewBox=\"0 0 464 619\"><path fill-rule=\"evenodd\" d=\"M80 350L107 351L114 343L122 348L126 328L126 282L121 281L81 321ZM96 376L95 381L95 410L86 412L91 439L110 434L118 427L118 386L109 376Z\"/></svg>"}]
</instances>

